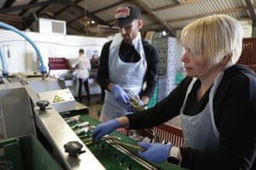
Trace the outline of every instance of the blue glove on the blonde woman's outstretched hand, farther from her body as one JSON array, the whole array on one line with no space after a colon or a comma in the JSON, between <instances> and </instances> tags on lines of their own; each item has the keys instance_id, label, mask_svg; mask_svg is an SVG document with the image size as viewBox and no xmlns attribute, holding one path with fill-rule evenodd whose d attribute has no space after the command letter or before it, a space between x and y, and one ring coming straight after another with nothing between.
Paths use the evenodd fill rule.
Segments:
<instances>
[{"instance_id":1,"label":"blue glove on the blonde woman's outstretched hand, farther from her body","mask_svg":"<svg viewBox=\"0 0 256 170\"><path fill-rule=\"evenodd\" d=\"M102 122L92 131L91 137L95 139L96 142L100 141L103 136L108 133L112 133L113 130L119 127L121 127L121 124L116 119L108 122Z\"/></svg>"}]
</instances>

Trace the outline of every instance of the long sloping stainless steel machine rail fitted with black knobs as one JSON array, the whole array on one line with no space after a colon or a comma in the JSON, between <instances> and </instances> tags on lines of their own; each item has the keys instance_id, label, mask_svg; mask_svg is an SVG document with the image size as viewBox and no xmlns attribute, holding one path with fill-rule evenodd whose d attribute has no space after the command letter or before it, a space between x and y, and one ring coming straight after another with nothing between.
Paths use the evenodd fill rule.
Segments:
<instances>
[{"instance_id":1,"label":"long sloping stainless steel machine rail fitted with black knobs","mask_svg":"<svg viewBox=\"0 0 256 170\"><path fill-rule=\"evenodd\" d=\"M30 95L34 105L36 105L36 102L39 100L38 95L35 94L29 85L26 85L26 91ZM49 143L55 149L58 156L61 157L61 161L65 163L67 169L105 169L101 162L96 159L52 105L49 105L45 111L39 111L39 108L36 106L34 111L37 127L44 134L46 139L49 140ZM77 158L68 156L68 153L64 150L64 144L70 141L78 141L83 144L82 150L85 150L85 153L79 155Z\"/></svg>"}]
</instances>

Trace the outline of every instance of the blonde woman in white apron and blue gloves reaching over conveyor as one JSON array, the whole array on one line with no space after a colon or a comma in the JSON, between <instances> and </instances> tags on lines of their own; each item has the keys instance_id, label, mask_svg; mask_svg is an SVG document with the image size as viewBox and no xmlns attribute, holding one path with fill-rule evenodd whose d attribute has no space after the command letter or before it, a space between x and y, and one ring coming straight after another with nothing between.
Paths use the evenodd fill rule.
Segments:
<instances>
[{"instance_id":1,"label":"blonde woman in white apron and blue gloves reaching over conveyor","mask_svg":"<svg viewBox=\"0 0 256 170\"><path fill-rule=\"evenodd\" d=\"M139 156L195 170L256 169L256 75L241 56L242 27L224 14L195 20L181 32L187 77L154 108L103 122L97 141L118 127L154 127L181 115L184 147L139 142Z\"/></svg>"}]
</instances>

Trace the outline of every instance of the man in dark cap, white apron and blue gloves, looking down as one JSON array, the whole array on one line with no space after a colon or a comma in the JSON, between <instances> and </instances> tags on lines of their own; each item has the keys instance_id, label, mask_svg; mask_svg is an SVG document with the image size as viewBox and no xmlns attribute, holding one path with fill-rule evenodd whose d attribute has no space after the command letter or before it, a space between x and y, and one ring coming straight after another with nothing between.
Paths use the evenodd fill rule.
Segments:
<instances>
[{"instance_id":1,"label":"man in dark cap, white apron and blue gloves, looking down","mask_svg":"<svg viewBox=\"0 0 256 170\"><path fill-rule=\"evenodd\" d=\"M115 19L119 33L104 44L97 73L97 82L106 89L101 122L130 114L131 97L139 95L141 105L148 104L154 94L159 64L157 51L141 37L143 20L139 8L119 7Z\"/></svg>"}]
</instances>

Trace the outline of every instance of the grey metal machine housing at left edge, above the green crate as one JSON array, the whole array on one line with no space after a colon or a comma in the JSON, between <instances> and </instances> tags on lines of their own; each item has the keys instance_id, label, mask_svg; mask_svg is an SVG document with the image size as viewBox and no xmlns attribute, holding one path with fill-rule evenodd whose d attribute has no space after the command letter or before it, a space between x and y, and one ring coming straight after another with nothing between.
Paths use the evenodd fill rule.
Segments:
<instances>
[{"instance_id":1,"label":"grey metal machine housing at left edge, above the green crate","mask_svg":"<svg viewBox=\"0 0 256 170\"><path fill-rule=\"evenodd\" d=\"M0 139L36 135L29 95L19 82L0 85L0 107Z\"/></svg>"}]
</instances>

